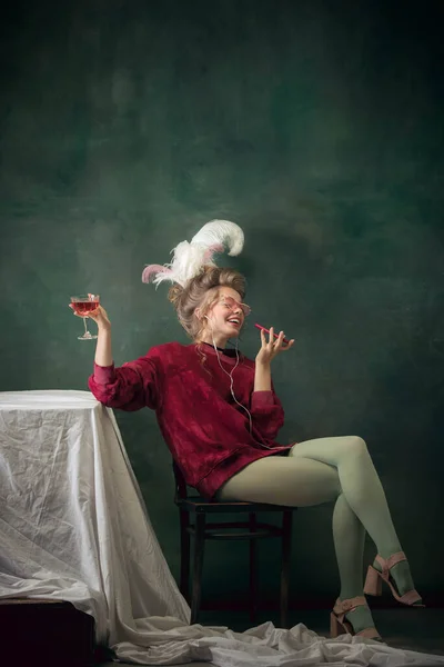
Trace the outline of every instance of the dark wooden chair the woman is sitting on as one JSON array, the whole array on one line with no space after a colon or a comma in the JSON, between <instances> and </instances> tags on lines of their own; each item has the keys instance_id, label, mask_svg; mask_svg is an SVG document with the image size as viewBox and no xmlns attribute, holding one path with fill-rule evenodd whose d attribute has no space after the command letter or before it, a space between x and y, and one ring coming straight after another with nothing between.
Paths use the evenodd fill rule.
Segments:
<instances>
[{"instance_id":1,"label":"dark wooden chair the woman is sitting on","mask_svg":"<svg viewBox=\"0 0 444 667\"><path fill-rule=\"evenodd\" d=\"M287 627L289 583L290 583L290 551L292 536L292 519L295 507L266 505L262 502L213 502L204 498L188 495L188 486L179 467L173 462L175 478L174 502L179 508L180 539L181 539L181 574L180 590L191 607L191 624L198 621L201 591L202 565L205 539L250 541L250 618L255 620L258 611L256 596L256 540L268 537L282 539L281 561L281 593L280 614L281 627ZM273 526L258 521L259 511L274 511L282 514L281 526ZM206 515L220 514L248 514L249 520L206 522ZM191 537L194 538L193 576L191 599L189 590L190 580L190 550Z\"/></svg>"}]
</instances>

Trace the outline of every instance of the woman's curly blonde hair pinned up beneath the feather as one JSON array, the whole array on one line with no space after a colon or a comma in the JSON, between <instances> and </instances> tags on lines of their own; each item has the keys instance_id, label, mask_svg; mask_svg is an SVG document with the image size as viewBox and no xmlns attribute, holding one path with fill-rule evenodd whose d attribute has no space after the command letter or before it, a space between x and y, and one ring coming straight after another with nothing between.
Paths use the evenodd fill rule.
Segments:
<instances>
[{"instance_id":1,"label":"woman's curly blonde hair pinned up beneath the feather","mask_svg":"<svg viewBox=\"0 0 444 667\"><path fill-rule=\"evenodd\" d=\"M219 288L231 287L245 298L245 278L235 269L204 266L202 270L192 278L185 287L174 283L168 293L173 303L178 318L189 337L200 342L205 329L203 316L215 303L219 297ZM195 309L200 309L200 318Z\"/></svg>"}]
</instances>

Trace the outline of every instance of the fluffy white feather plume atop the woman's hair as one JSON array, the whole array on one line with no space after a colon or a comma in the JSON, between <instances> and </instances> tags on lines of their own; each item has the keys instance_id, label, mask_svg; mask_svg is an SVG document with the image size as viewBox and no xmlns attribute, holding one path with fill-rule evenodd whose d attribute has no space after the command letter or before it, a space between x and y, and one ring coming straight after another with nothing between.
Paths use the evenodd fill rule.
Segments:
<instances>
[{"instance_id":1,"label":"fluffy white feather plume atop the woman's hair","mask_svg":"<svg viewBox=\"0 0 444 667\"><path fill-rule=\"evenodd\" d=\"M179 282L185 287L203 266L216 266L215 252L223 252L225 246L232 257L243 248L243 231L230 220L211 220L193 236L190 242L181 241L171 250L173 260L167 265L149 265L142 273L142 282L154 282L158 287L163 280Z\"/></svg>"}]
</instances>

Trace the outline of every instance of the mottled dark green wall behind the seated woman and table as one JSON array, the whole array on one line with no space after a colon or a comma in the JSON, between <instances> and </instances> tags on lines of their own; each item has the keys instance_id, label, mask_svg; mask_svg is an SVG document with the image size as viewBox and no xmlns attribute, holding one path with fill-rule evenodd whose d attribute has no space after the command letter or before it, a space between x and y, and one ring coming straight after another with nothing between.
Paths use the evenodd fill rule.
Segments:
<instances>
[{"instance_id":1,"label":"mottled dark green wall behind the seated woman and table","mask_svg":"<svg viewBox=\"0 0 444 667\"><path fill-rule=\"evenodd\" d=\"M442 11L437 3L18 2L3 16L2 390L85 389L97 291L117 364L185 341L145 263L212 218L239 222L282 441L367 440L422 591L444 589ZM243 349L254 356L250 328ZM178 574L154 416L119 415ZM299 512L295 594L334 595L331 508ZM208 596L243 590L244 547L209 550ZM369 557L373 548L369 546ZM263 551L264 595L278 554ZM239 573L233 578L233 569Z\"/></svg>"}]
</instances>

